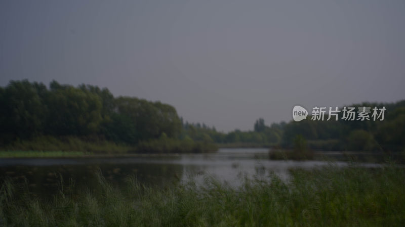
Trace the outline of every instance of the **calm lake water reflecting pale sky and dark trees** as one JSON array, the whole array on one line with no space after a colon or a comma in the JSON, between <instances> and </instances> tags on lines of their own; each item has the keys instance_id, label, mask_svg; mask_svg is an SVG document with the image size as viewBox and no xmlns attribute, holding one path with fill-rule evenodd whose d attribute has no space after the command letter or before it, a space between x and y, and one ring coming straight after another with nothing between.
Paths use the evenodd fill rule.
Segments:
<instances>
[{"instance_id":1,"label":"calm lake water reflecting pale sky and dark trees","mask_svg":"<svg viewBox=\"0 0 405 227\"><path fill-rule=\"evenodd\" d=\"M333 155L339 154L331 153ZM237 185L245 176L267 177L274 172L282 179L288 179L291 168L316 168L328 164L331 162L269 160L267 148L221 148L209 154L4 158L0 159L0 177L10 177L17 182L27 180L31 192L47 196L57 192L61 184L65 188L74 185L75 189L96 190L99 171L116 185L124 184L128 176L135 176L141 184L153 187L183 183L190 178L198 183L207 176ZM346 166L348 163L334 161L333 165ZM362 165L377 166L373 163Z\"/></svg>"}]
</instances>

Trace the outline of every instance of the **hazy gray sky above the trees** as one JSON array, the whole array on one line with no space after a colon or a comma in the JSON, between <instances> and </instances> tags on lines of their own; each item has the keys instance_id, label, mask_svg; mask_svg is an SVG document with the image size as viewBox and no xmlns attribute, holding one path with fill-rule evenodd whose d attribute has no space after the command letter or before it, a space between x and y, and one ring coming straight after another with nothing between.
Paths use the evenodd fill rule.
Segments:
<instances>
[{"instance_id":1,"label":"hazy gray sky above the trees","mask_svg":"<svg viewBox=\"0 0 405 227\"><path fill-rule=\"evenodd\" d=\"M404 42L403 0L2 0L0 85L94 84L247 130L404 99Z\"/></svg>"}]
</instances>

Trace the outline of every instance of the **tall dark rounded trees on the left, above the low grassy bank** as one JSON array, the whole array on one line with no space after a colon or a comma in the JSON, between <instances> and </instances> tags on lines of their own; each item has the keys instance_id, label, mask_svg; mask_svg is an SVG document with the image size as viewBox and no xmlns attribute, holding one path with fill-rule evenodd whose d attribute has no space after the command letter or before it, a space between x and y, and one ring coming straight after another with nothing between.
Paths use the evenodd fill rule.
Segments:
<instances>
[{"instance_id":1,"label":"tall dark rounded trees on the left, above the low grassy bank","mask_svg":"<svg viewBox=\"0 0 405 227\"><path fill-rule=\"evenodd\" d=\"M180 118L173 106L134 97L114 97L107 88L52 81L10 81L0 87L3 145L41 135L74 136L129 145L178 138Z\"/></svg>"}]
</instances>

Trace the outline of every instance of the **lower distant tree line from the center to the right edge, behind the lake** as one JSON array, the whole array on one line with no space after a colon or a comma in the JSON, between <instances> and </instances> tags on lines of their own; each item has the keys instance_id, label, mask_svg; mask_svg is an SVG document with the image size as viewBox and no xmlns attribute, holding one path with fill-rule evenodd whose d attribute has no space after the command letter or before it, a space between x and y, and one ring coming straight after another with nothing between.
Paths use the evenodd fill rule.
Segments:
<instances>
[{"instance_id":1,"label":"lower distant tree line from the center to the right edge, behind the lake","mask_svg":"<svg viewBox=\"0 0 405 227\"><path fill-rule=\"evenodd\" d=\"M210 139L220 146L266 146L291 149L297 139L314 150L405 151L405 100L396 103L361 103L351 107L385 107L383 121L307 120L266 125L259 118L254 130L235 129L228 133L200 123L183 123L183 134L193 139ZM328 119L328 115L325 115Z\"/></svg>"}]
</instances>

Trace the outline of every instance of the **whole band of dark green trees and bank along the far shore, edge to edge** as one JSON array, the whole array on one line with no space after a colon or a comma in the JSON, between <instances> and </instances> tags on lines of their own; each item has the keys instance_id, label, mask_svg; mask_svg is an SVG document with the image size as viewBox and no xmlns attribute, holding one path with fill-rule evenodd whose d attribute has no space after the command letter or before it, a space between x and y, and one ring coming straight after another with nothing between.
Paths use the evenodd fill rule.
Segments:
<instances>
[{"instance_id":1,"label":"whole band of dark green trees and bank along the far shore, edge to edge","mask_svg":"<svg viewBox=\"0 0 405 227\"><path fill-rule=\"evenodd\" d=\"M184 122L173 106L133 97L114 97L93 85L10 81L0 87L0 145L3 150L89 150L203 152L221 147L291 148L297 137L314 150L403 151L405 100L361 103L382 107L383 121L307 120L266 125L251 131L217 131ZM326 118L327 119L327 118Z\"/></svg>"}]
</instances>

